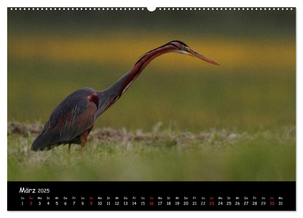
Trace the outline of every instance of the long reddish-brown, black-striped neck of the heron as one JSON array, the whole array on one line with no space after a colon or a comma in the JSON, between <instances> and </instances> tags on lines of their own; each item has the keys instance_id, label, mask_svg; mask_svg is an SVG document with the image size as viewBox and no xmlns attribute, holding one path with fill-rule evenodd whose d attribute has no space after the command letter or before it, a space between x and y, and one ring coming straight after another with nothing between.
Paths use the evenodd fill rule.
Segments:
<instances>
[{"instance_id":1,"label":"long reddish-brown, black-striped neck of the heron","mask_svg":"<svg viewBox=\"0 0 303 218\"><path fill-rule=\"evenodd\" d=\"M133 68L130 69L130 71L125 75L123 75L117 82L115 82L104 91L99 92L99 116L124 94L124 92L130 87L134 80L140 75L142 70L144 70L147 64L149 64L156 57L165 53L173 52L174 50L175 47L173 45L163 45L159 48L149 51L146 55L142 56L133 66Z\"/></svg>"}]
</instances>

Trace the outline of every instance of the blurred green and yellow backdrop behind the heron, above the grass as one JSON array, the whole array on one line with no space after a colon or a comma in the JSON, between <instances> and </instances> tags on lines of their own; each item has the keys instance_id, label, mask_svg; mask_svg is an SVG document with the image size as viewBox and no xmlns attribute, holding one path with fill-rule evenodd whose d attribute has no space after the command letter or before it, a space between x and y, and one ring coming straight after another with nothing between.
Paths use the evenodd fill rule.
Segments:
<instances>
[{"instance_id":1,"label":"blurred green and yellow backdrop behind the heron, above the grass","mask_svg":"<svg viewBox=\"0 0 303 218\"><path fill-rule=\"evenodd\" d=\"M294 12L14 13L8 14L8 121L45 123L71 92L108 88L140 55L181 40L221 67L162 55L95 126L295 125Z\"/></svg>"}]
</instances>

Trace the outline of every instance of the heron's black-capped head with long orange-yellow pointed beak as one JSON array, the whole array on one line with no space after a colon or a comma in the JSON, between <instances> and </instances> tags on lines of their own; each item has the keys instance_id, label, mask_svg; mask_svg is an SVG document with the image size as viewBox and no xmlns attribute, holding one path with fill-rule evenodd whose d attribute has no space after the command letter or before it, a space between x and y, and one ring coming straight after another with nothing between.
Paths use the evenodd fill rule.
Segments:
<instances>
[{"instance_id":1,"label":"heron's black-capped head with long orange-yellow pointed beak","mask_svg":"<svg viewBox=\"0 0 303 218\"><path fill-rule=\"evenodd\" d=\"M169 43L167 43L167 45L173 45L175 47L175 50L173 52L175 53L180 53L180 54L184 54L184 55L190 55L190 56L193 56L193 57L196 57L198 59L201 59L201 60L204 60L208 63L211 63L211 64L215 64L215 65L219 65L218 63L216 63L215 61L199 54L198 52L192 50L191 48L189 48L188 45L186 45L184 42L181 42L181 41L178 41L178 40L174 40L174 41L171 41Z\"/></svg>"}]
</instances>

